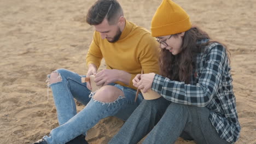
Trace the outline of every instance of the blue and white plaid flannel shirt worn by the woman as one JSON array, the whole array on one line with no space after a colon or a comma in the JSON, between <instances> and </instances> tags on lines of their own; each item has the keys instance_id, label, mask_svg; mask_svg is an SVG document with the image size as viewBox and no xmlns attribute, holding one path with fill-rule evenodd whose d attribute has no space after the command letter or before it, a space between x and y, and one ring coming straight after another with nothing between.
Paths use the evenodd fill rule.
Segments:
<instances>
[{"instance_id":1,"label":"blue and white plaid flannel shirt worn by the woman","mask_svg":"<svg viewBox=\"0 0 256 144\"><path fill-rule=\"evenodd\" d=\"M198 40L206 43L208 39ZM230 65L225 47L212 43L197 53L190 84L155 75L152 90L173 103L207 107L218 135L234 143L240 136Z\"/></svg>"}]
</instances>

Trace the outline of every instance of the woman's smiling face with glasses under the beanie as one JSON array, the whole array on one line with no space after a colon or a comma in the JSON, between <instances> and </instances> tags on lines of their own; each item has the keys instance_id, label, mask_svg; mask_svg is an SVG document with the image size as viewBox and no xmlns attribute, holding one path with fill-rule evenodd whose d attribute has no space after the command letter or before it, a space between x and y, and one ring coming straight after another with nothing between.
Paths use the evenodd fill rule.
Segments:
<instances>
[{"instance_id":1,"label":"woman's smiling face with glasses under the beanie","mask_svg":"<svg viewBox=\"0 0 256 144\"><path fill-rule=\"evenodd\" d=\"M161 44L161 49L166 49L172 53L172 55L177 55L181 52L182 39L185 32L179 33L177 35L165 35L158 37L158 42Z\"/></svg>"}]
</instances>

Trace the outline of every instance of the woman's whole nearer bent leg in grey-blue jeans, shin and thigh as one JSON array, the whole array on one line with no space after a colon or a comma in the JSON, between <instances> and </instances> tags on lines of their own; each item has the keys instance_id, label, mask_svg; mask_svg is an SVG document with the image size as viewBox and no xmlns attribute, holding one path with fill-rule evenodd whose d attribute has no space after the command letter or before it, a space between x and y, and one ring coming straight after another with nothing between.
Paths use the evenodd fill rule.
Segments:
<instances>
[{"instance_id":1,"label":"woman's whole nearer bent leg in grey-blue jeans, shin and thigh","mask_svg":"<svg viewBox=\"0 0 256 144\"><path fill-rule=\"evenodd\" d=\"M220 139L209 115L206 107L171 103L143 143L174 143L179 136L196 143L228 143Z\"/></svg>"}]
</instances>

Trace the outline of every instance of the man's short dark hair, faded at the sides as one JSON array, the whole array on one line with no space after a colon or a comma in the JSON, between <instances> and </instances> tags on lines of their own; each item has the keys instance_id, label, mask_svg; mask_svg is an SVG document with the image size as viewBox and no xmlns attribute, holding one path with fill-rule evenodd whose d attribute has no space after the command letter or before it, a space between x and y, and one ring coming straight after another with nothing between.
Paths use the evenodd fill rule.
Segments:
<instances>
[{"instance_id":1,"label":"man's short dark hair, faded at the sides","mask_svg":"<svg viewBox=\"0 0 256 144\"><path fill-rule=\"evenodd\" d=\"M91 6L86 15L86 22L89 25L99 25L104 18L109 25L118 21L119 16L123 16L123 9L116 0L98 0Z\"/></svg>"}]
</instances>

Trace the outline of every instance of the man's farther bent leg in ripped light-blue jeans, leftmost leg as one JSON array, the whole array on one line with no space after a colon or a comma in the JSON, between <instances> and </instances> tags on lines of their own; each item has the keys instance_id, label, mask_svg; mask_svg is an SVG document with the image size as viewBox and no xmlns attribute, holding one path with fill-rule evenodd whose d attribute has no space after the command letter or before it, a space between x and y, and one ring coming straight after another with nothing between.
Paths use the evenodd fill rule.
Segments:
<instances>
[{"instance_id":1,"label":"man's farther bent leg in ripped light-blue jeans, leftmost leg","mask_svg":"<svg viewBox=\"0 0 256 144\"><path fill-rule=\"evenodd\" d=\"M74 98L86 105L90 90L81 76L66 69L58 69L49 75L49 86L53 92L59 124L62 125L77 114Z\"/></svg>"}]
</instances>

